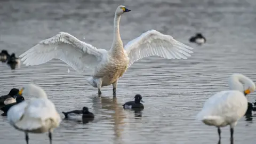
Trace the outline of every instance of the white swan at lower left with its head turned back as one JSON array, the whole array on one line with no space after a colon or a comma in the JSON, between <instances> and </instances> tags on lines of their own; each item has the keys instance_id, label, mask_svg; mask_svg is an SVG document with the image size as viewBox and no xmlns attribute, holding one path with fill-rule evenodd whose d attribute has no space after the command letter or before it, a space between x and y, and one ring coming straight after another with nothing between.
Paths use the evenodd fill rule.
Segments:
<instances>
[{"instance_id":1,"label":"white swan at lower left with its head turned back","mask_svg":"<svg viewBox=\"0 0 256 144\"><path fill-rule=\"evenodd\" d=\"M28 132L49 132L50 143L52 143L52 131L61 122L54 104L47 99L45 91L34 84L28 84L22 88L20 94L22 91L25 95L35 95L38 98L26 100L11 107L7 112L8 121L15 129L25 132L27 144Z\"/></svg>"}]
</instances>

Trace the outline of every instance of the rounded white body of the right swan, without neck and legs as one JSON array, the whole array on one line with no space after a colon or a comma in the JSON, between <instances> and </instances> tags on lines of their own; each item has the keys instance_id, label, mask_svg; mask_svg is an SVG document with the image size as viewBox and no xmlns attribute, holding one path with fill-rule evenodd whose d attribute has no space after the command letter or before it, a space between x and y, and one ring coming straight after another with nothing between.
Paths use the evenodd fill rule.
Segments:
<instances>
[{"instance_id":1,"label":"rounded white body of the right swan, without neck and legs","mask_svg":"<svg viewBox=\"0 0 256 144\"><path fill-rule=\"evenodd\" d=\"M247 110L247 98L236 90L221 91L208 99L203 110L197 115L207 125L223 127L236 125Z\"/></svg>"}]
</instances>

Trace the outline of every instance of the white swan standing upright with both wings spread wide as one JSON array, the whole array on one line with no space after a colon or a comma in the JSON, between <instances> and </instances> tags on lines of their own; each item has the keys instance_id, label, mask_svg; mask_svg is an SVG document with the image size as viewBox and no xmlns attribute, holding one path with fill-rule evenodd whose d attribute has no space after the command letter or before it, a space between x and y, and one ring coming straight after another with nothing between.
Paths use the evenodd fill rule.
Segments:
<instances>
[{"instance_id":1,"label":"white swan standing upright with both wings spread wide","mask_svg":"<svg viewBox=\"0 0 256 144\"><path fill-rule=\"evenodd\" d=\"M113 84L116 93L118 78L121 77L132 63L145 57L157 55L167 59L187 59L191 57L193 48L182 44L169 35L156 30L149 30L133 39L123 47L119 34L121 15L131 10L118 6L114 19L114 40L111 49L96 49L94 46L79 41L76 37L61 32L49 39L39 42L25 53L21 60L26 66L40 65L51 59L60 59L78 72L87 67L93 70L92 77L87 78L92 86L101 87Z\"/></svg>"}]
</instances>

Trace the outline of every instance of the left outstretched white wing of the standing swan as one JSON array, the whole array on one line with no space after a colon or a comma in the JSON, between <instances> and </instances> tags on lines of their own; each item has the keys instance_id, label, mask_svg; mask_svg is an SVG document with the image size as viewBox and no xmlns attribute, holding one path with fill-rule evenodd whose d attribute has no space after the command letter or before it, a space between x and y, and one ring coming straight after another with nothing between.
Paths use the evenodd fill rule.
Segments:
<instances>
[{"instance_id":1,"label":"left outstretched white wing of the standing swan","mask_svg":"<svg viewBox=\"0 0 256 144\"><path fill-rule=\"evenodd\" d=\"M40 65L51 59L60 59L76 71L82 72L86 67L94 68L107 52L79 41L76 37L61 32L21 54L21 60L26 66Z\"/></svg>"}]
</instances>

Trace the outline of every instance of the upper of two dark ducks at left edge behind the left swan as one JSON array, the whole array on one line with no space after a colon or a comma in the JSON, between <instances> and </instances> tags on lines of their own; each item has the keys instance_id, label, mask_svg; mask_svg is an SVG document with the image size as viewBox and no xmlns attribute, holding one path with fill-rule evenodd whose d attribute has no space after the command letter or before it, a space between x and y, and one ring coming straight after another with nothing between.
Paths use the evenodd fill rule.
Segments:
<instances>
[{"instance_id":1,"label":"upper of two dark ducks at left edge behind the left swan","mask_svg":"<svg viewBox=\"0 0 256 144\"><path fill-rule=\"evenodd\" d=\"M0 97L0 109L5 105L16 102L15 95L19 94L19 89L12 89L7 95Z\"/></svg>"}]
</instances>

